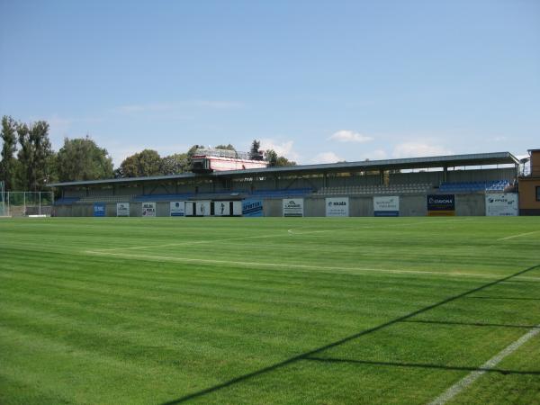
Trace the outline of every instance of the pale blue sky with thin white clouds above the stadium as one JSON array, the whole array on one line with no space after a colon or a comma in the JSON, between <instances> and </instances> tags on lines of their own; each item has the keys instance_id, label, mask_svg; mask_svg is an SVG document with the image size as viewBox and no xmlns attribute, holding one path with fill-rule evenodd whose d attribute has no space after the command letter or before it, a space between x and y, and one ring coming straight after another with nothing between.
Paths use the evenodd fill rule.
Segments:
<instances>
[{"instance_id":1,"label":"pale blue sky with thin white clouds above the stadium","mask_svg":"<svg viewBox=\"0 0 540 405\"><path fill-rule=\"evenodd\" d=\"M302 164L540 148L540 1L0 0L0 114Z\"/></svg>"}]
</instances>

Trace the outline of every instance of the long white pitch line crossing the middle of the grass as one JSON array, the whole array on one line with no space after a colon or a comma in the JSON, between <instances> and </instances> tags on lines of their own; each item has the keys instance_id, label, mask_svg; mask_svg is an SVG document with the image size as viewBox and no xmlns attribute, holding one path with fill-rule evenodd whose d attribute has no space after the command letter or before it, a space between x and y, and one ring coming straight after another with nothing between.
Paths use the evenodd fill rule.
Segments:
<instances>
[{"instance_id":1,"label":"long white pitch line crossing the middle of the grass","mask_svg":"<svg viewBox=\"0 0 540 405\"><path fill-rule=\"evenodd\" d=\"M247 266L247 267L282 267L282 268L298 268L306 270L329 270L329 271L341 271L341 272L371 272L371 273L392 273L398 275L445 275L449 277L479 277L479 278L500 278L500 275L481 275L476 273L446 273L446 272L432 272L422 270L392 270L383 268L369 268L369 267L339 267L339 266L311 266L311 265L290 265L280 263L260 263L260 262L241 262L231 260L218 260L218 259L202 259L202 258L190 258L190 257L168 257L168 256L155 256L155 255L136 255L131 253L113 253L104 252L103 250L85 250L87 255L95 256L112 256L123 258L140 258L148 260L161 260L172 262L184 262L184 263L208 263L217 265L235 265L235 266Z\"/></svg>"}]
</instances>

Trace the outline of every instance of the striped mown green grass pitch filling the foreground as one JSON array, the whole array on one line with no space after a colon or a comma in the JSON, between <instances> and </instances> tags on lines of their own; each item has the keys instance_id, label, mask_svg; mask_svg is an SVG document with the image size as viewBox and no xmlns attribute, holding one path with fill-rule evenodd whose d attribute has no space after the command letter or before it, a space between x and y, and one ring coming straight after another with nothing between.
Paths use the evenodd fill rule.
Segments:
<instances>
[{"instance_id":1,"label":"striped mown green grass pitch filling the foreground","mask_svg":"<svg viewBox=\"0 0 540 405\"><path fill-rule=\"evenodd\" d=\"M0 220L2 404L425 404L538 324L540 218Z\"/></svg>"}]
</instances>

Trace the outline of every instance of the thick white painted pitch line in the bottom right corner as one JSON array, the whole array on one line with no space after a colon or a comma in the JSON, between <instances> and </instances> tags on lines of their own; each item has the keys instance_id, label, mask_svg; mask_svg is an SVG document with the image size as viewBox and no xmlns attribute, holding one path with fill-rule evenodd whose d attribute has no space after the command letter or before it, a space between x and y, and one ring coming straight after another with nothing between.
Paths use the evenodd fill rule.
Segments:
<instances>
[{"instance_id":1,"label":"thick white painted pitch line in the bottom right corner","mask_svg":"<svg viewBox=\"0 0 540 405\"><path fill-rule=\"evenodd\" d=\"M482 376L482 374L485 374L491 368L499 365L499 363L506 356L514 353L516 350L518 350L519 347L525 344L527 340L529 340L530 338L534 338L538 333L540 333L540 325L536 325L535 328L529 330L521 338L518 338L518 340L509 345L509 347L506 347L505 349L501 350L497 355L491 357L491 359L484 363L479 370L473 371L471 374L465 376L464 379L452 385L450 388L448 388L448 390L446 390L446 392L443 392L435 400L429 402L428 405L443 405L447 401L452 400L455 395L464 391L465 388L474 383L479 377Z\"/></svg>"}]
</instances>

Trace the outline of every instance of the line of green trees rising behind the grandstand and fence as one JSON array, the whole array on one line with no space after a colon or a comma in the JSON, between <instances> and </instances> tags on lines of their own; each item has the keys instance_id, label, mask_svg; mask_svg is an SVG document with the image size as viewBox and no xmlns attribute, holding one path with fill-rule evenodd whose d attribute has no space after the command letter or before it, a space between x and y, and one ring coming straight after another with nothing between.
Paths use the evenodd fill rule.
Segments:
<instances>
[{"instance_id":1,"label":"line of green trees rising behind the grandstand and fence","mask_svg":"<svg viewBox=\"0 0 540 405\"><path fill-rule=\"evenodd\" d=\"M6 190L44 190L54 182L101 180L112 177L141 177L148 175L176 175L191 170L191 159L199 145L184 153L165 157L156 150L144 149L126 157L114 169L112 157L88 135L85 138L64 139L64 145L54 151L49 140L49 123L25 123L12 117L2 118L0 134L3 145L0 155L0 180ZM215 148L236 150L231 144ZM250 157L261 158L260 142L255 139ZM295 166L286 157L269 149L262 156L269 166Z\"/></svg>"}]
</instances>

